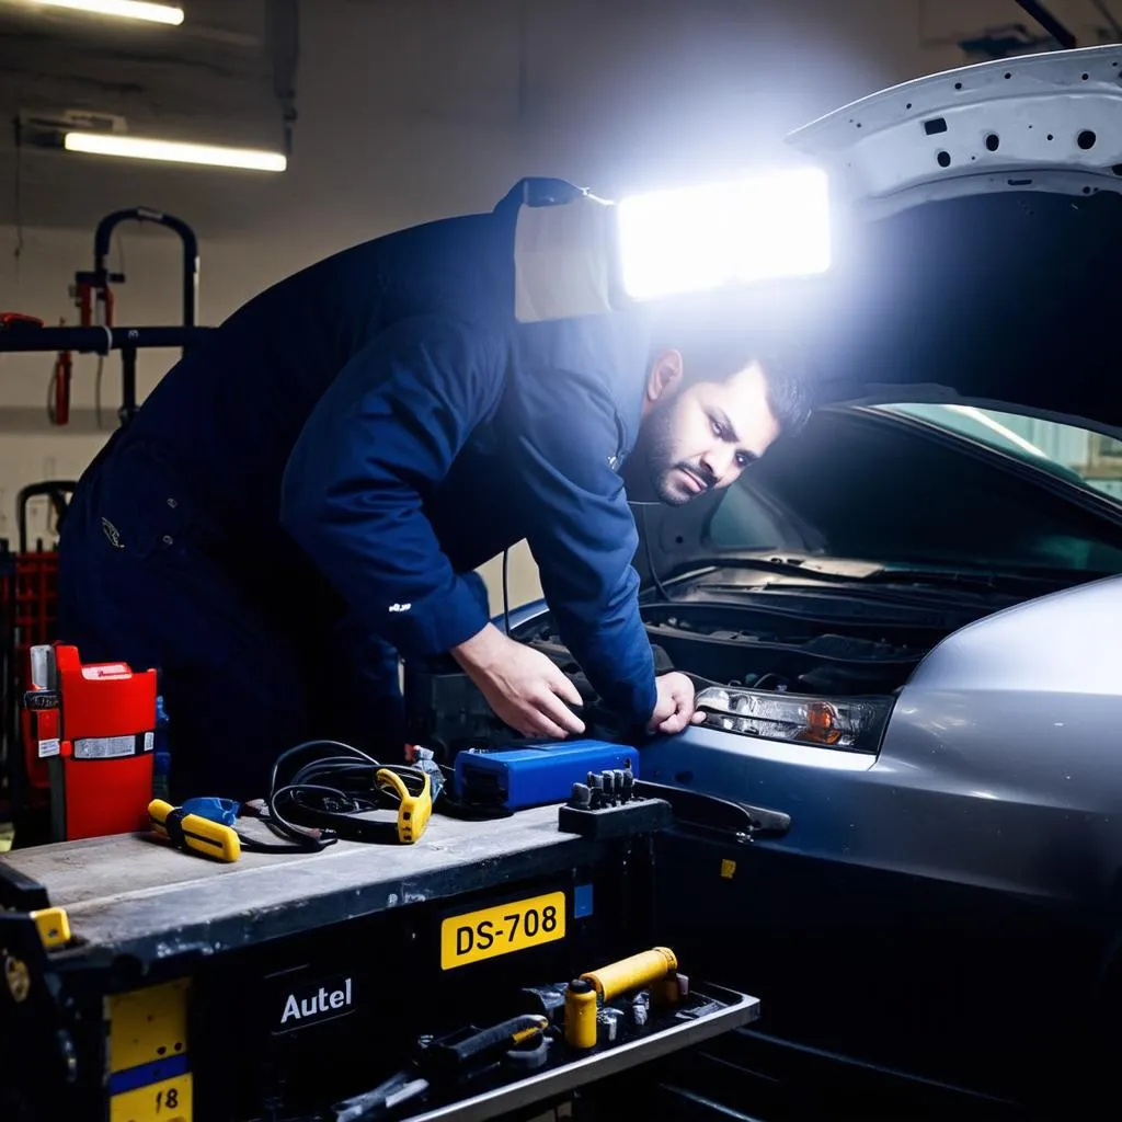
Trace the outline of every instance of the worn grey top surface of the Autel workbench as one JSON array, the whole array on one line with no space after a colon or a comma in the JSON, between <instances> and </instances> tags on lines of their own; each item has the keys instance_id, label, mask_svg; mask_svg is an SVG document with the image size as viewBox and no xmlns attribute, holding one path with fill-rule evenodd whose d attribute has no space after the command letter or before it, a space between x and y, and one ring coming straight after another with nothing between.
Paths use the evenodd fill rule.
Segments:
<instances>
[{"instance_id":1,"label":"worn grey top surface of the Autel workbench","mask_svg":"<svg viewBox=\"0 0 1122 1122\"><path fill-rule=\"evenodd\" d=\"M246 833L250 826L259 824ZM122 834L16 850L0 864L43 884L50 903L66 910L82 940L73 953L150 962L491 888L572 867L597 852L558 830L557 807L540 807L482 822L434 815L407 846L338 842L315 854L242 853L222 864Z\"/></svg>"}]
</instances>

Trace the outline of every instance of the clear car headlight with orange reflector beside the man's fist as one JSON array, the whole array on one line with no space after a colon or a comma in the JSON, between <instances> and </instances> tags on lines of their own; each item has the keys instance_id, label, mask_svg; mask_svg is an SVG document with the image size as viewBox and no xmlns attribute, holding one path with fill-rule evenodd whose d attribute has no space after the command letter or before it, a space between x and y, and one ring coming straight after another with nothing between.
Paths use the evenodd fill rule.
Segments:
<instances>
[{"instance_id":1,"label":"clear car headlight with orange reflector beside the man's fist","mask_svg":"<svg viewBox=\"0 0 1122 1122\"><path fill-rule=\"evenodd\" d=\"M720 688L701 690L696 705L708 728L873 754L892 712L892 698L827 700Z\"/></svg>"}]
</instances>

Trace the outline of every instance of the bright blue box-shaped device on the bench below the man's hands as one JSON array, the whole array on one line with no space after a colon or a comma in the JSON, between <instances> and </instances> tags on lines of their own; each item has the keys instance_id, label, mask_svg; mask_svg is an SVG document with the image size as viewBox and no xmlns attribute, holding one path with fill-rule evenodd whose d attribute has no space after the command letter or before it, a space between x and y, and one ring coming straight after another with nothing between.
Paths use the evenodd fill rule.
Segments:
<instances>
[{"instance_id":1,"label":"bright blue box-shaped device on the bench below the man's hands","mask_svg":"<svg viewBox=\"0 0 1122 1122\"><path fill-rule=\"evenodd\" d=\"M456 757L456 795L463 802L524 810L564 802L589 772L631 770L638 752L607 741L555 741L519 748L468 748Z\"/></svg>"}]
</instances>

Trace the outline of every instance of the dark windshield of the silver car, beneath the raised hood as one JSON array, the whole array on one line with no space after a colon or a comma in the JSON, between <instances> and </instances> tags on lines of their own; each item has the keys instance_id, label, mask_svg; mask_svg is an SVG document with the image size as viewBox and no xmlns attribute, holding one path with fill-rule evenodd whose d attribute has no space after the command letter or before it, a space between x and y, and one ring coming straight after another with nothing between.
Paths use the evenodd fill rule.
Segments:
<instances>
[{"instance_id":1,"label":"dark windshield of the silver car, beneath the raised hood","mask_svg":"<svg viewBox=\"0 0 1122 1122\"><path fill-rule=\"evenodd\" d=\"M971 454L973 443L893 420L894 412L918 415L914 408L816 413L801 433L778 441L724 495L709 521L707 544L876 561L1122 572L1122 525L1031 477ZM1009 442L1036 461L1034 452L976 416L957 414L954 424L941 427L963 425L962 434L974 436L966 424L993 432L987 443ZM1096 493L1109 496L1110 461L1119 460L1122 449L1095 441L1084 448L1085 461L1063 453L1067 462L1051 460L1048 470L1088 486L1094 481ZM1059 443L1051 450L1058 453ZM1122 523L1122 499L1113 502Z\"/></svg>"}]
</instances>

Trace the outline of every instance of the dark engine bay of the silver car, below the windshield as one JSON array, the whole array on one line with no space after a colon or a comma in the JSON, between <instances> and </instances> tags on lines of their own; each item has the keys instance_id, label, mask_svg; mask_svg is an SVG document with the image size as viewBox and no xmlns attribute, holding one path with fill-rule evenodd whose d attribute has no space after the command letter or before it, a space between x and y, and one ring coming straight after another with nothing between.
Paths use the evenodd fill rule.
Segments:
<instances>
[{"instance_id":1,"label":"dark engine bay of the silver car, below the windshield","mask_svg":"<svg viewBox=\"0 0 1122 1122\"><path fill-rule=\"evenodd\" d=\"M735 600L696 586L673 601L641 605L655 672L688 674L698 691L741 689L828 699L891 697L940 640L1004 606L896 590L883 598L824 588L738 590ZM545 613L512 634L542 651L583 699L587 735L617 739L618 719L601 703ZM523 738L490 711L451 660L406 664L405 702L412 743L450 761L467 747Z\"/></svg>"}]
</instances>

